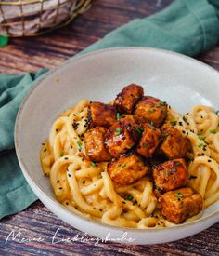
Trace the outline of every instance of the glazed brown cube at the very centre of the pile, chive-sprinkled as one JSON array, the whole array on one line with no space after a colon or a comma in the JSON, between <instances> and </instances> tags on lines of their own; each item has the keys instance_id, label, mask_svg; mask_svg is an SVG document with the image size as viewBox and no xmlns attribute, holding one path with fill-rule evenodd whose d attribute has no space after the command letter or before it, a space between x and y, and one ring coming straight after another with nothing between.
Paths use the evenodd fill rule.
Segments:
<instances>
[{"instance_id":1,"label":"glazed brown cube at the very centre of the pile, chive-sprinkled","mask_svg":"<svg viewBox=\"0 0 219 256\"><path fill-rule=\"evenodd\" d=\"M110 155L118 158L132 148L137 139L136 130L137 125L132 115L124 115L111 126L105 142Z\"/></svg>"}]
</instances>

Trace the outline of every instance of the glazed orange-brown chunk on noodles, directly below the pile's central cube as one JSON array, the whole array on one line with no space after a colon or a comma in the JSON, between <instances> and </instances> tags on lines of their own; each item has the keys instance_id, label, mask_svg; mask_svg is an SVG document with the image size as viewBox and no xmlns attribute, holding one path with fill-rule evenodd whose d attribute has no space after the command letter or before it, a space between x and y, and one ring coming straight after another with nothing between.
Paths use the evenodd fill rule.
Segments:
<instances>
[{"instance_id":1,"label":"glazed orange-brown chunk on noodles, directly below the pile's central cube","mask_svg":"<svg viewBox=\"0 0 219 256\"><path fill-rule=\"evenodd\" d=\"M108 164L110 178L119 184L128 185L142 178L148 173L148 166L144 165L138 155L122 155L118 160Z\"/></svg>"}]
</instances>

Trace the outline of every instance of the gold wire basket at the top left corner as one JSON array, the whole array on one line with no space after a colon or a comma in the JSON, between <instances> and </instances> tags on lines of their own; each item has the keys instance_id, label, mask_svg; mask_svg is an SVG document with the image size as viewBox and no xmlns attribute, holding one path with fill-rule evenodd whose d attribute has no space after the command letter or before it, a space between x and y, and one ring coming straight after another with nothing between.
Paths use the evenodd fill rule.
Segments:
<instances>
[{"instance_id":1,"label":"gold wire basket at the top left corner","mask_svg":"<svg viewBox=\"0 0 219 256\"><path fill-rule=\"evenodd\" d=\"M84 13L91 0L0 0L0 34L44 34Z\"/></svg>"}]
</instances>

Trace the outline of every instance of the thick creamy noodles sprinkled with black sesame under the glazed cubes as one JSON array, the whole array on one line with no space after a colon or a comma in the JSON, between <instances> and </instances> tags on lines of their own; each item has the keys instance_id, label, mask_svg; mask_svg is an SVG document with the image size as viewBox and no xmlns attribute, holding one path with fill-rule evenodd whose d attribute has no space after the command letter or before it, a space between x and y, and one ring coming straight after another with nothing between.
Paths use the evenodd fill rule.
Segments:
<instances>
[{"instance_id":1,"label":"thick creamy noodles sprinkled with black sesame under the glazed cubes","mask_svg":"<svg viewBox=\"0 0 219 256\"><path fill-rule=\"evenodd\" d=\"M82 100L61 114L40 151L43 171L50 178L58 201L79 215L114 226L174 225L161 216L161 205L153 193L153 182L149 177L119 186L110 179L108 162L86 160L84 133L88 129L89 103ZM206 106L195 106L186 115L179 115L169 108L166 123L172 121L173 124L173 120L175 127L192 145L187 154L191 160L188 185L202 195L204 208L207 208L219 200L218 115Z\"/></svg>"}]
</instances>

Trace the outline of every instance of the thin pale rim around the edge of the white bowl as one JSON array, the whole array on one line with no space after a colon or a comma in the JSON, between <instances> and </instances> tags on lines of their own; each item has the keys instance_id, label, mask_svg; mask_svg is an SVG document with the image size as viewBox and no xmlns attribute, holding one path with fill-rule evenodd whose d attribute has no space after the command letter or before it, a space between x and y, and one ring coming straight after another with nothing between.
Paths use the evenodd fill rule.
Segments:
<instances>
[{"instance_id":1,"label":"thin pale rim around the edge of the white bowl","mask_svg":"<svg viewBox=\"0 0 219 256\"><path fill-rule=\"evenodd\" d=\"M45 192L41 188L38 187L38 185L32 180L32 178L28 174L28 172L27 172L28 168L25 164L25 160L23 159L23 157L20 155L20 152L19 152L19 120L20 120L20 116L22 115L22 111L23 111L23 108L26 104L26 101L29 100L29 98L33 94L34 90L36 88L39 88L42 81L44 81L47 76L49 76L50 74L54 74L57 71L59 71L59 69L64 68L65 66L69 65L71 63L71 61L77 61L77 60L81 60L81 59L84 59L84 58L87 58L87 57L93 57L93 56L96 56L96 55L99 55L99 54L101 55L102 53L105 53L105 52L110 53L111 51L119 51L121 53L122 51L125 52L127 50L150 51L150 52L155 52L155 53L160 52L160 53L165 54L165 55L171 55L171 56L174 56L176 58L181 58L181 59L184 59L184 60L187 60L187 61L196 62L196 64L198 64L198 65L200 65L204 68L209 69L210 72L219 76L219 72L217 70L215 70L213 67L209 66L208 64L206 64L202 61L193 59L193 58L191 58L187 55L181 54L181 53L177 53L177 52L174 52L174 51L161 49L161 48L155 48L155 47L109 47L109 48L99 49L99 50L95 50L95 51L87 52L87 53L82 52L82 53L79 53L76 56L71 57L69 60L62 62L57 67L55 67L52 70L49 70L47 73L43 74L39 79L37 79L37 82L35 83L33 88L30 89L30 91L24 97L23 101L21 102L21 104L19 106L19 111L18 111L18 114L17 114L17 117L16 117L16 122L15 122L14 141L15 141L16 155L17 155L18 160L19 160L19 166L22 170L22 174L24 175L26 182L28 182L30 184L30 186L33 186L42 196L45 196L46 200L49 201L52 205L55 204L56 207L61 208L64 211L67 211L67 212L71 213L75 218L83 219L83 221L86 222L86 223L93 222L94 224L100 225L104 228L110 228L110 229L117 230L117 231L118 230L119 231L125 230L126 232L135 232L135 233L142 233L142 232L145 233L145 232L151 232L151 231L153 231L153 232L161 232L162 231L163 232L163 231L170 231L170 230L177 230L177 229L186 228L187 226L191 226L191 225L194 225L194 224L199 223L199 222L206 222L207 220L212 219L215 216L219 217L219 209L215 209L213 211L213 213L208 214L205 217L200 217L199 219L194 220L192 222L181 223L181 224L177 224L177 225L170 226L170 227L152 227L152 228L148 228L148 229L139 229L139 228L132 228L132 227L113 226L113 225L110 225L110 224L107 224L107 223L99 222L97 220L88 219L84 216L81 216L81 215L78 215L78 214L72 212L70 209L65 208L62 204L60 204L58 202L58 200L56 200L55 198L52 199L52 198L50 198L49 195L46 195ZM34 194L35 194L35 192L34 192ZM218 203L218 202L215 202L215 203ZM47 208L46 205L45 205L45 207Z\"/></svg>"}]
</instances>

